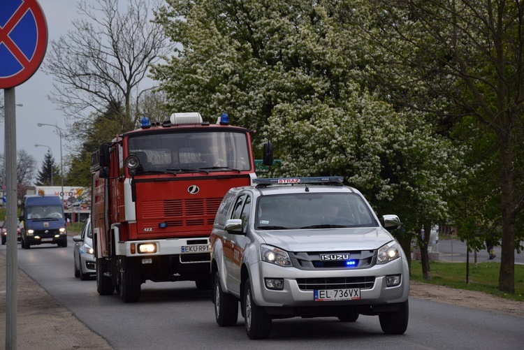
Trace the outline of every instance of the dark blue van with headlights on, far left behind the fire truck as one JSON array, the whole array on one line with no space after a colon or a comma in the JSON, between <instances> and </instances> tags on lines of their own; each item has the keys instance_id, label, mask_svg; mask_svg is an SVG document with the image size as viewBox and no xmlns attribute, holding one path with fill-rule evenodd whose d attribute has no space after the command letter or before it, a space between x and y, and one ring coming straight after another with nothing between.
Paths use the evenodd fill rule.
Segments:
<instances>
[{"instance_id":1,"label":"dark blue van with headlights on, far left behind the fire truck","mask_svg":"<svg viewBox=\"0 0 524 350\"><path fill-rule=\"evenodd\" d=\"M25 196L20 214L22 248L42 243L67 247L64 205L59 196Z\"/></svg>"}]
</instances>

